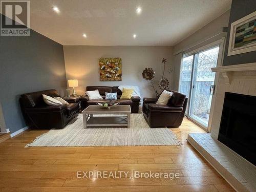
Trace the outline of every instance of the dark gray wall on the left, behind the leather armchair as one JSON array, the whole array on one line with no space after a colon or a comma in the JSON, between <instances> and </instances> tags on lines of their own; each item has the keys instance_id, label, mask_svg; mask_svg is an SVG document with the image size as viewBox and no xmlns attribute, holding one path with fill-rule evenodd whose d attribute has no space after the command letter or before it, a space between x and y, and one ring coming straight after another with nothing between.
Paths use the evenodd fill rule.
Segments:
<instances>
[{"instance_id":1,"label":"dark gray wall on the left, behind the leather armchair","mask_svg":"<svg viewBox=\"0 0 256 192\"><path fill-rule=\"evenodd\" d=\"M63 47L31 30L31 36L0 36L0 102L11 133L26 126L19 105L23 93L67 88Z\"/></svg>"}]
</instances>

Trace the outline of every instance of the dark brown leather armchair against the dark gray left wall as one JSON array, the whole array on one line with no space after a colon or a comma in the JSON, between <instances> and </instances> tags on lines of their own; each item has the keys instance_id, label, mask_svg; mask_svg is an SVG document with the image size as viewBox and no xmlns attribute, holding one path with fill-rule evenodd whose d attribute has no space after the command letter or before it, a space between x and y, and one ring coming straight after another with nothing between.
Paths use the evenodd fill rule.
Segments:
<instances>
[{"instance_id":1,"label":"dark brown leather armchair against the dark gray left wall","mask_svg":"<svg viewBox=\"0 0 256 192\"><path fill-rule=\"evenodd\" d=\"M20 97L20 105L29 126L38 129L62 129L78 115L78 103L47 105L42 98L43 93L51 97L60 97L56 90L26 93Z\"/></svg>"}]
</instances>

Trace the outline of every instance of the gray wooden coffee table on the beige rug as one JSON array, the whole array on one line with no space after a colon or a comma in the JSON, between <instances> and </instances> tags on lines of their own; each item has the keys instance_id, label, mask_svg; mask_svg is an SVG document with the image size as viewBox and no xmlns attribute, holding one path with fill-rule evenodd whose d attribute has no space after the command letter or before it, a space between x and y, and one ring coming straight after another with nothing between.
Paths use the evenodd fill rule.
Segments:
<instances>
[{"instance_id":1,"label":"gray wooden coffee table on the beige rug","mask_svg":"<svg viewBox=\"0 0 256 192\"><path fill-rule=\"evenodd\" d=\"M101 114L105 116L94 116ZM111 116L111 115L123 116ZM83 128L99 127L99 126L124 126L130 128L131 125L131 106L130 105L116 105L112 108L105 109L99 105L89 105L82 111Z\"/></svg>"}]
</instances>

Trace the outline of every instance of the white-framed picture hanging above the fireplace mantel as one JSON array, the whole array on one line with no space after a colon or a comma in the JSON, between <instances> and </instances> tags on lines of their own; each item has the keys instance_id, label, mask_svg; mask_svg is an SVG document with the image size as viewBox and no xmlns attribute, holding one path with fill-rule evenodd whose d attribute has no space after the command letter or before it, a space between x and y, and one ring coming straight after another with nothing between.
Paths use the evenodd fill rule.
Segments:
<instances>
[{"instance_id":1,"label":"white-framed picture hanging above the fireplace mantel","mask_svg":"<svg viewBox=\"0 0 256 192\"><path fill-rule=\"evenodd\" d=\"M231 24L227 55L250 51L256 51L256 11Z\"/></svg>"}]
</instances>

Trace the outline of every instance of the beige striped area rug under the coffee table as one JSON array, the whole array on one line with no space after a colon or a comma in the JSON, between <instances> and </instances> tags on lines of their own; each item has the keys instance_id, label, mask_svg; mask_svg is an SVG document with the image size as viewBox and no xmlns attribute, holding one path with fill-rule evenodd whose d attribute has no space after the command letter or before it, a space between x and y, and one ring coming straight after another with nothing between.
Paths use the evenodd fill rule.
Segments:
<instances>
[{"instance_id":1,"label":"beige striped area rug under the coffee table","mask_svg":"<svg viewBox=\"0 0 256 192\"><path fill-rule=\"evenodd\" d=\"M28 146L135 146L180 145L172 131L150 128L143 114L131 115L131 128L83 129L82 114L74 118L62 130L52 129L38 136Z\"/></svg>"}]
</instances>

